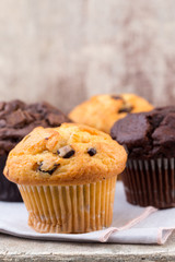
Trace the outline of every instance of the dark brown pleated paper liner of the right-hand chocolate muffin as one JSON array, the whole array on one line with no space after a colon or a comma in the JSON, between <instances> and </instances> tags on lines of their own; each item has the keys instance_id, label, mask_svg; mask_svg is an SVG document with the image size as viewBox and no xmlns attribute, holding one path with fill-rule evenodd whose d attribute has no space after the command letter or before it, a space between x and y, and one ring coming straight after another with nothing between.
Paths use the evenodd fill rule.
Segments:
<instances>
[{"instance_id":1,"label":"dark brown pleated paper liner of the right-hand chocolate muffin","mask_svg":"<svg viewBox=\"0 0 175 262\"><path fill-rule=\"evenodd\" d=\"M122 181L131 204L158 209L175 206L175 158L129 159Z\"/></svg>"}]
</instances>

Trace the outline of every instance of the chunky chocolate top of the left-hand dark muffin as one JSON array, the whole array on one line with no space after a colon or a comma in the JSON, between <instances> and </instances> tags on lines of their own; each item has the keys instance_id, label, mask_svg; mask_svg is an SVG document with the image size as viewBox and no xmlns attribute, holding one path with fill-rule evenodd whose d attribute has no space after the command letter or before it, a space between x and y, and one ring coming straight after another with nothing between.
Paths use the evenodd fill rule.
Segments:
<instances>
[{"instance_id":1,"label":"chunky chocolate top of the left-hand dark muffin","mask_svg":"<svg viewBox=\"0 0 175 262\"><path fill-rule=\"evenodd\" d=\"M8 154L36 127L58 127L70 120L47 103L27 105L21 100L0 103L0 155Z\"/></svg>"}]
</instances>

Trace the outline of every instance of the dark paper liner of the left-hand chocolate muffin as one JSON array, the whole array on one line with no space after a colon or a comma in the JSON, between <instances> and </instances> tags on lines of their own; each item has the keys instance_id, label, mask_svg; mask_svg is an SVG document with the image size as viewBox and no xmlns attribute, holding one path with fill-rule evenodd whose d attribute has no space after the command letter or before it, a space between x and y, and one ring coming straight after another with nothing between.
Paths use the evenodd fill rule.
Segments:
<instances>
[{"instance_id":1,"label":"dark paper liner of the left-hand chocolate muffin","mask_svg":"<svg viewBox=\"0 0 175 262\"><path fill-rule=\"evenodd\" d=\"M21 202L22 198L18 186L9 181L3 175L7 155L0 156L0 201Z\"/></svg>"}]
</instances>

